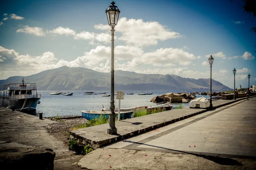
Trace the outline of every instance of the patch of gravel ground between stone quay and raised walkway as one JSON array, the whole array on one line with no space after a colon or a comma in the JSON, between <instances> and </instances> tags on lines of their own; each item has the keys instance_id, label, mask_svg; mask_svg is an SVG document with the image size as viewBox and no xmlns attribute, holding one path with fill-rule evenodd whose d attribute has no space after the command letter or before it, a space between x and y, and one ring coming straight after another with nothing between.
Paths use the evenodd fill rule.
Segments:
<instances>
[{"instance_id":1,"label":"patch of gravel ground between stone quay and raised walkway","mask_svg":"<svg viewBox=\"0 0 256 170\"><path fill-rule=\"evenodd\" d=\"M69 141L69 131L77 125L85 124L87 121L88 120L84 118L53 120L52 124L45 126L45 128L49 134L53 135L56 139L63 141L64 144L67 145L67 142Z\"/></svg>"}]
</instances>

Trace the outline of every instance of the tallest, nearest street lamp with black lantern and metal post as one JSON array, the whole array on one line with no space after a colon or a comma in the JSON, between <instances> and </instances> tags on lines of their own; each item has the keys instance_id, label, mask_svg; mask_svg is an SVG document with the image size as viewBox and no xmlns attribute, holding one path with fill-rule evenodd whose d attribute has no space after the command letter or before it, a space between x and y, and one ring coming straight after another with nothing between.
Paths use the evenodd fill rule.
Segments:
<instances>
[{"instance_id":1,"label":"tallest, nearest street lamp with black lantern and metal post","mask_svg":"<svg viewBox=\"0 0 256 170\"><path fill-rule=\"evenodd\" d=\"M119 9L117 6L115 6L114 1L112 1L111 6L109 6L106 9L106 14L108 18L108 25L111 27L111 102L110 102L110 111L109 114L109 127L108 127L108 133L109 134L116 134L116 122L115 122L115 105L114 105L114 32L115 32L115 26L118 21L119 17Z\"/></svg>"}]
</instances>

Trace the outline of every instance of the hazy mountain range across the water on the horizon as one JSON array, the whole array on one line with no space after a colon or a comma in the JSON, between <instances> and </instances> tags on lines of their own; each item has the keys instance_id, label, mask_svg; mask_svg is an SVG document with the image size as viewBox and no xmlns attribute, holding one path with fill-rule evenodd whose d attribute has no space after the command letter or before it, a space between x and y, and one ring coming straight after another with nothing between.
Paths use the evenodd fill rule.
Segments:
<instances>
[{"instance_id":1,"label":"hazy mountain range across the water on the horizon","mask_svg":"<svg viewBox=\"0 0 256 170\"><path fill-rule=\"evenodd\" d=\"M0 89L9 83L20 83L22 76L0 80ZM111 74L88 68L62 66L24 76L27 83L36 83L39 91L110 91ZM210 79L190 79L174 74L139 74L114 72L115 91L209 91ZM212 79L212 91L229 91L229 87Z\"/></svg>"}]
</instances>

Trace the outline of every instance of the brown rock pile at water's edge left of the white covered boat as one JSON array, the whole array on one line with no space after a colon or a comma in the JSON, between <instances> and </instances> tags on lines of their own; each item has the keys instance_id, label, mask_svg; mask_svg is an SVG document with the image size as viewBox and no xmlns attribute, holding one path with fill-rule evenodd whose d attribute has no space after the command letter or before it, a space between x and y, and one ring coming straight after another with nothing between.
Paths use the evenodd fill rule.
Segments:
<instances>
[{"instance_id":1,"label":"brown rock pile at water's edge left of the white covered boat","mask_svg":"<svg viewBox=\"0 0 256 170\"><path fill-rule=\"evenodd\" d=\"M150 102L188 103L192 99L195 99L194 93L166 93L162 94L161 96L154 96Z\"/></svg>"}]
</instances>

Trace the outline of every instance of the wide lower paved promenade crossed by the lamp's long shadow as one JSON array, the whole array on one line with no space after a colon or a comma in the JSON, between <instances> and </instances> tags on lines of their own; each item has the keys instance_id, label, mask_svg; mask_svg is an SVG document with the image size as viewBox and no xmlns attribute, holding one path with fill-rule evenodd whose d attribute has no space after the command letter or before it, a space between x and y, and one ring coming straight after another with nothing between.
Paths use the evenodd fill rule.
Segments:
<instances>
[{"instance_id":1,"label":"wide lower paved promenade crossed by the lamp's long shadow","mask_svg":"<svg viewBox=\"0 0 256 170\"><path fill-rule=\"evenodd\" d=\"M90 170L255 170L256 98L98 148L78 164Z\"/></svg>"}]
</instances>

